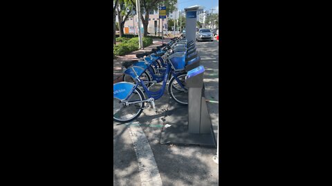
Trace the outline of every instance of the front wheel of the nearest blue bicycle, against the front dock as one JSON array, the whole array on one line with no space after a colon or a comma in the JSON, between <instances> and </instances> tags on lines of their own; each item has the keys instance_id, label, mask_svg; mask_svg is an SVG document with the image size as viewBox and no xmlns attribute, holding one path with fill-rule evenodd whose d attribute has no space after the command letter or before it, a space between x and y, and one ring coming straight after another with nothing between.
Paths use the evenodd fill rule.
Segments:
<instances>
[{"instance_id":1,"label":"front wheel of the nearest blue bicycle, against the front dock","mask_svg":"<svg viewBox=\"0 0 332 186\"><path fill-rule=\"evenodd\" d=\"M176 76L179 82L176 81L174 76L172 76L172 79L168 84L168 94L174 99L174 101L181 105L188 105L188 88L185 84L185 76L187 76L186 73ZM181 87L181 84L185 88Z\"/></svg>"}]
</instances>

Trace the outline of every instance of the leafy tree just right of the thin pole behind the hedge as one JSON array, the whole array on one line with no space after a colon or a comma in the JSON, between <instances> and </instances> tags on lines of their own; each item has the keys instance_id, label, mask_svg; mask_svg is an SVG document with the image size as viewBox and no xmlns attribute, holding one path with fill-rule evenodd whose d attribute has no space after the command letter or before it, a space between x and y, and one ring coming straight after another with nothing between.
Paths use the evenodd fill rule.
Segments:
<instances>
[{"instance_id":1,"label":"leafy tree just right of the thin pole behind the hedge","mask_svg":"<svg viewBox=\"0 0 332 186\"><path fill-rule=\"evenodd\" d=\"M127 0L124 0L127 1ZM136 1L129 0L136 10ZM149 12L152 10L158 10L160 6L166 6L166 13L173 12L175 10L177 0L140 0L140 11L144 12L144 16L141 13L140 19L142 20L144 28L144 36L147 36L147 26L149 25Z\"/></svg>"}]
</instances>

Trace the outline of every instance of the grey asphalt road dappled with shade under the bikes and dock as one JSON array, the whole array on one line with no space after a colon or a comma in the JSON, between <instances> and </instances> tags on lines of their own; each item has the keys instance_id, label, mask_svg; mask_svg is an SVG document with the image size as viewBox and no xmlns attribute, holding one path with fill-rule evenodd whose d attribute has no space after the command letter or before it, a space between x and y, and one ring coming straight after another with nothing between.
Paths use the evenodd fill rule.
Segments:
<instances>
[{"instance_id":1,"label":"grey asphalt road dappled with shade under the bikes and dock","mask_svg":"<svg viewBox=\"0 0 332 186\"><path fill-rule=\"evenodd\" d=\"M205 98L217 102L219 101L218 42L198 42L196 48L201 56L201 64L205 68ZM156 85L151 90L159 88L160 86ZM127 123L127 125L113 123L113 184L158 185L155 183L161 179L163 185L218 185L219 167L212 161L216 149L196 145L160 145L163 125L176 121L172 113L186 110L186 108L169 99L167 90L164 96L155 103L158 113L149 107L133 123ZM218 104L207 103L215 130L219 124ZM183 115L185 116L185 113ZM142 134L137 127L142 130ZM135 135L136 138L133 138ZM148 145L144 142L145 138ZM146 155L149 156L149 161L153 159L151 165L142 165L141 160L144 156L142 156L142 150L137 147L139 145L149 146L142 149L153 155L152 158ZM153 169L154 166L158 169L151 171L154 174L148 174L149 169ZM154 178L147 182L149 180L147 175Z\"/></svg>"}]
</instances>

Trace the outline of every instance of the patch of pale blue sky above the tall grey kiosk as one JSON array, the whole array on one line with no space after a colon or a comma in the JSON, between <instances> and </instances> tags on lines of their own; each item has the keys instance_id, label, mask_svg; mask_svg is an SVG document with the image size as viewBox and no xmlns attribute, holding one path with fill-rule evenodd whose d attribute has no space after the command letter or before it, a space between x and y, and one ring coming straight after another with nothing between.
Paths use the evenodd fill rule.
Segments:
<instances>
[{"instance_id":1,"label":"patch of pale blue sky above the tall grey kiosk","mask_svg":"<svg viewBox=\"0 0 332 186\"><path fill-rule=\"evenodd\" d=\"M210 8L214 8L213 12L219 12L219 1L218 0L178 0L178 10L184 10L184 8L190 6L203 6L204 10L210 10Z\"/></svg>"}]
</instances>

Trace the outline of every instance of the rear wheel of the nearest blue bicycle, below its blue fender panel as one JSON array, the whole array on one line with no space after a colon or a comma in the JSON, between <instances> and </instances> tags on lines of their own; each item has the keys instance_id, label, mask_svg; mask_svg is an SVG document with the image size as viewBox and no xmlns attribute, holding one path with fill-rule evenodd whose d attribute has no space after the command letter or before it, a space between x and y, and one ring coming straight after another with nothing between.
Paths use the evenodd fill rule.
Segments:
<instances>
[{"instance_id":1,"label":"rear wheel of the nearest blue bicycle, below its blue fender panel","mask_svg":"<svg viewBox=\"0 0 332 186\"><path fill-rule=\"evenodd\" d=\"M126 101L129 101L129 103L143 100L145 100L145 96L138 87L136 87L136 89L133 90L133 94L131 94L129 98L126 99ZM140 116L143 111L142 107L144 107L144 105L144 102L140 102L126 106L124 103L121 103L119 99L113 97L113 119L118 123L127 123L133 121L134 119L138 118L138 116Z\"/></svg>"}]
</instances>

